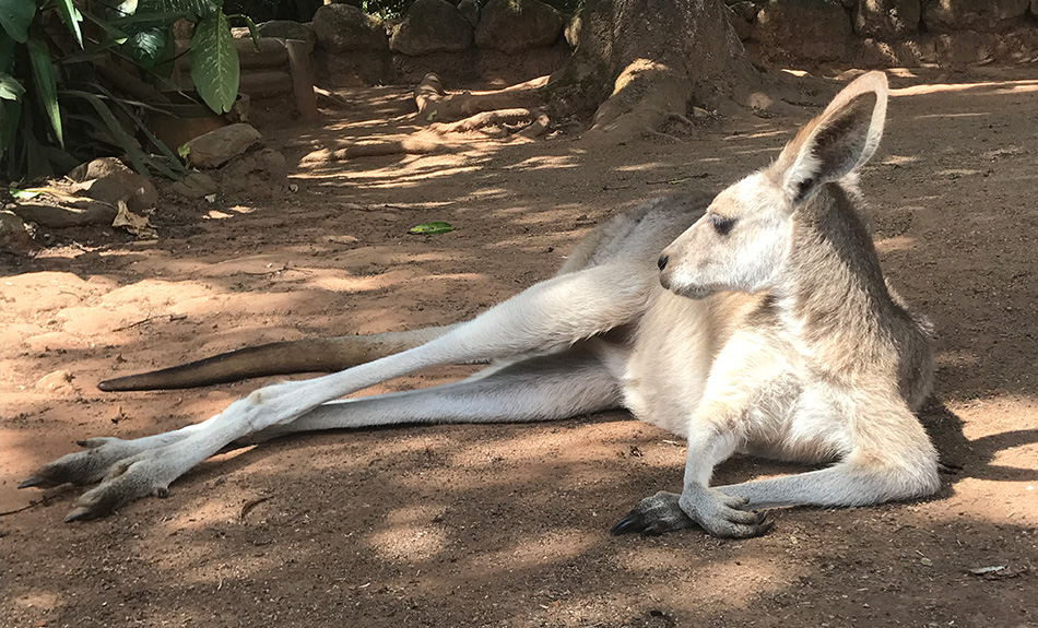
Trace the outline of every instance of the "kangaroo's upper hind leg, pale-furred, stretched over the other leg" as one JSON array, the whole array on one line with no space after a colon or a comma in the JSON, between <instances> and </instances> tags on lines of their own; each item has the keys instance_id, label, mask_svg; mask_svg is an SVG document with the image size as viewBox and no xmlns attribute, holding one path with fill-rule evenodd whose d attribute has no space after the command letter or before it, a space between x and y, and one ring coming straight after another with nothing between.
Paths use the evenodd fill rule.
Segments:
<instances>
[{"instance_id":1,"label":"kangaroo's upper hind leg, pale-furred, stretched over the other leg","mask_svg":"<svg viewBox=\"0 0 1038 628\"><path fill-rule=\"evenodd\" d=\"M291 424L323 403L375 383L436 365L558 351L628 324L641 316L657 289L649 264L617 260L542 282L424 345L333 375L261 388L180 433L182 438L175 442L156 442L114 462L69 519L99 517L145 495L164 494L170 482L227 445Z\"/></svg>"}]
</instances>

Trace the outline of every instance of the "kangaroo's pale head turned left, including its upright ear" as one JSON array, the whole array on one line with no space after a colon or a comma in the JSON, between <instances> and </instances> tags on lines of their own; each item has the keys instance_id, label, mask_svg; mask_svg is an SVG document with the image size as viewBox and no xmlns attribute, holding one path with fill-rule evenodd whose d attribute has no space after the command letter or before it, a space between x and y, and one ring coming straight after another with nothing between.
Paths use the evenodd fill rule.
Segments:
<instances>
[{"instance_id":1,"label":"kangaroo's pale head turned left, including its upright ear","mask_svg":"<svg viewBox=\"0 0 1038 628\"><path fill-rule=\"evenodd\" d=\"M793 214L826 183L852 175L880 144L887 82L869 72L837 94L779 157L719 193L660 256L660 283L692 298L775 287L789 257Z\"/></svg>"}]
</instances>

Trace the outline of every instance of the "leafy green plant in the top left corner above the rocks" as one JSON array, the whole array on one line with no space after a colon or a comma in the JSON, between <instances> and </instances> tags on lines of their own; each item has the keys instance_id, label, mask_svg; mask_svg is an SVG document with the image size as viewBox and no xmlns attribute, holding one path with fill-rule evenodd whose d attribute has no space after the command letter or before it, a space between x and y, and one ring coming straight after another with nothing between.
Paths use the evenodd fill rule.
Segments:
<instances>
[{"instance_id":1,"label":"leafy green plant in the top left corner above the rocks","mask_svg":"<svg viewBox=\"0 0 1038 628\"><path fill-rule=\"evenodd\" d=\"M220 0L123 0L116 7L0 0L0 167L8 177L51 176L118 153L138 171L176 177L179 162L151 134L142 112L161 109L163 88L176 88L168 79L179 20L193 25L196 90L214 111L229 110L238 56Z\"/></svg>"}]
</instances>

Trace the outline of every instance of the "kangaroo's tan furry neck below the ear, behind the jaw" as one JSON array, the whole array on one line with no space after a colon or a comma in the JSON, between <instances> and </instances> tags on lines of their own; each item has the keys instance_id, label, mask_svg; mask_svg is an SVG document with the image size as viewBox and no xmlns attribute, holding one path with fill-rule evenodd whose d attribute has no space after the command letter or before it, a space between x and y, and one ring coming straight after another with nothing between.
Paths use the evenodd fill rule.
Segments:
<instances>
[{"instance_id":1,"label":"kangaroo's tan furry neck below the ear, behind the jaw","mask_svg":"<svg viewBox=\"0 0 1038 628\"><path fill-rule=\"evenodd\" d=\"M887 328L890 300L853 190L824 186L793 216L776 304L801 349L833 375L852 376L897 359Z\"/></svg>"}]
</instances>

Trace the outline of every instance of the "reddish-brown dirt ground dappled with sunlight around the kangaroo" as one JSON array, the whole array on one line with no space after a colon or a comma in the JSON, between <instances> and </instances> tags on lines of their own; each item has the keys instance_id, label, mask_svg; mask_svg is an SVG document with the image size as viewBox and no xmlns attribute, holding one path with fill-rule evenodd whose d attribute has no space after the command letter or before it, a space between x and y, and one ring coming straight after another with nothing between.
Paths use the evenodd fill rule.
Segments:
<instances>
[{"instance_id":1,"label":"reddish-brown dirt ground dappled with sunlight around the kangaroo","mask_svg":"<svg viewBox=\"0 0 1038 628\"><path fill-rule=\"evenodd\" d=\"M621 412L283 439L87 523L61 521L81 489L16 490L76 439L178 427L261 383L101 393L102 379L470 317L550 276L616 209L766 165L809 110L610 150L570 129L303 162L296 191L168 197L157 241L54 233L0 258L0 625L1038 626L1038 71L894 84L862 188L889 279L939 330L922 420L949 473L933 499L785 510L748 541L610 536L640 498L680 488L684 458ZM326 126L270 127L268 144L299 164L305 141L406 130L406 94L345 92ZM434 220L455 230L406 235ZM738 459L717 481L791 471ZM987 567L1002 569L971 571Z\"/></svg>"}]
</instances>

